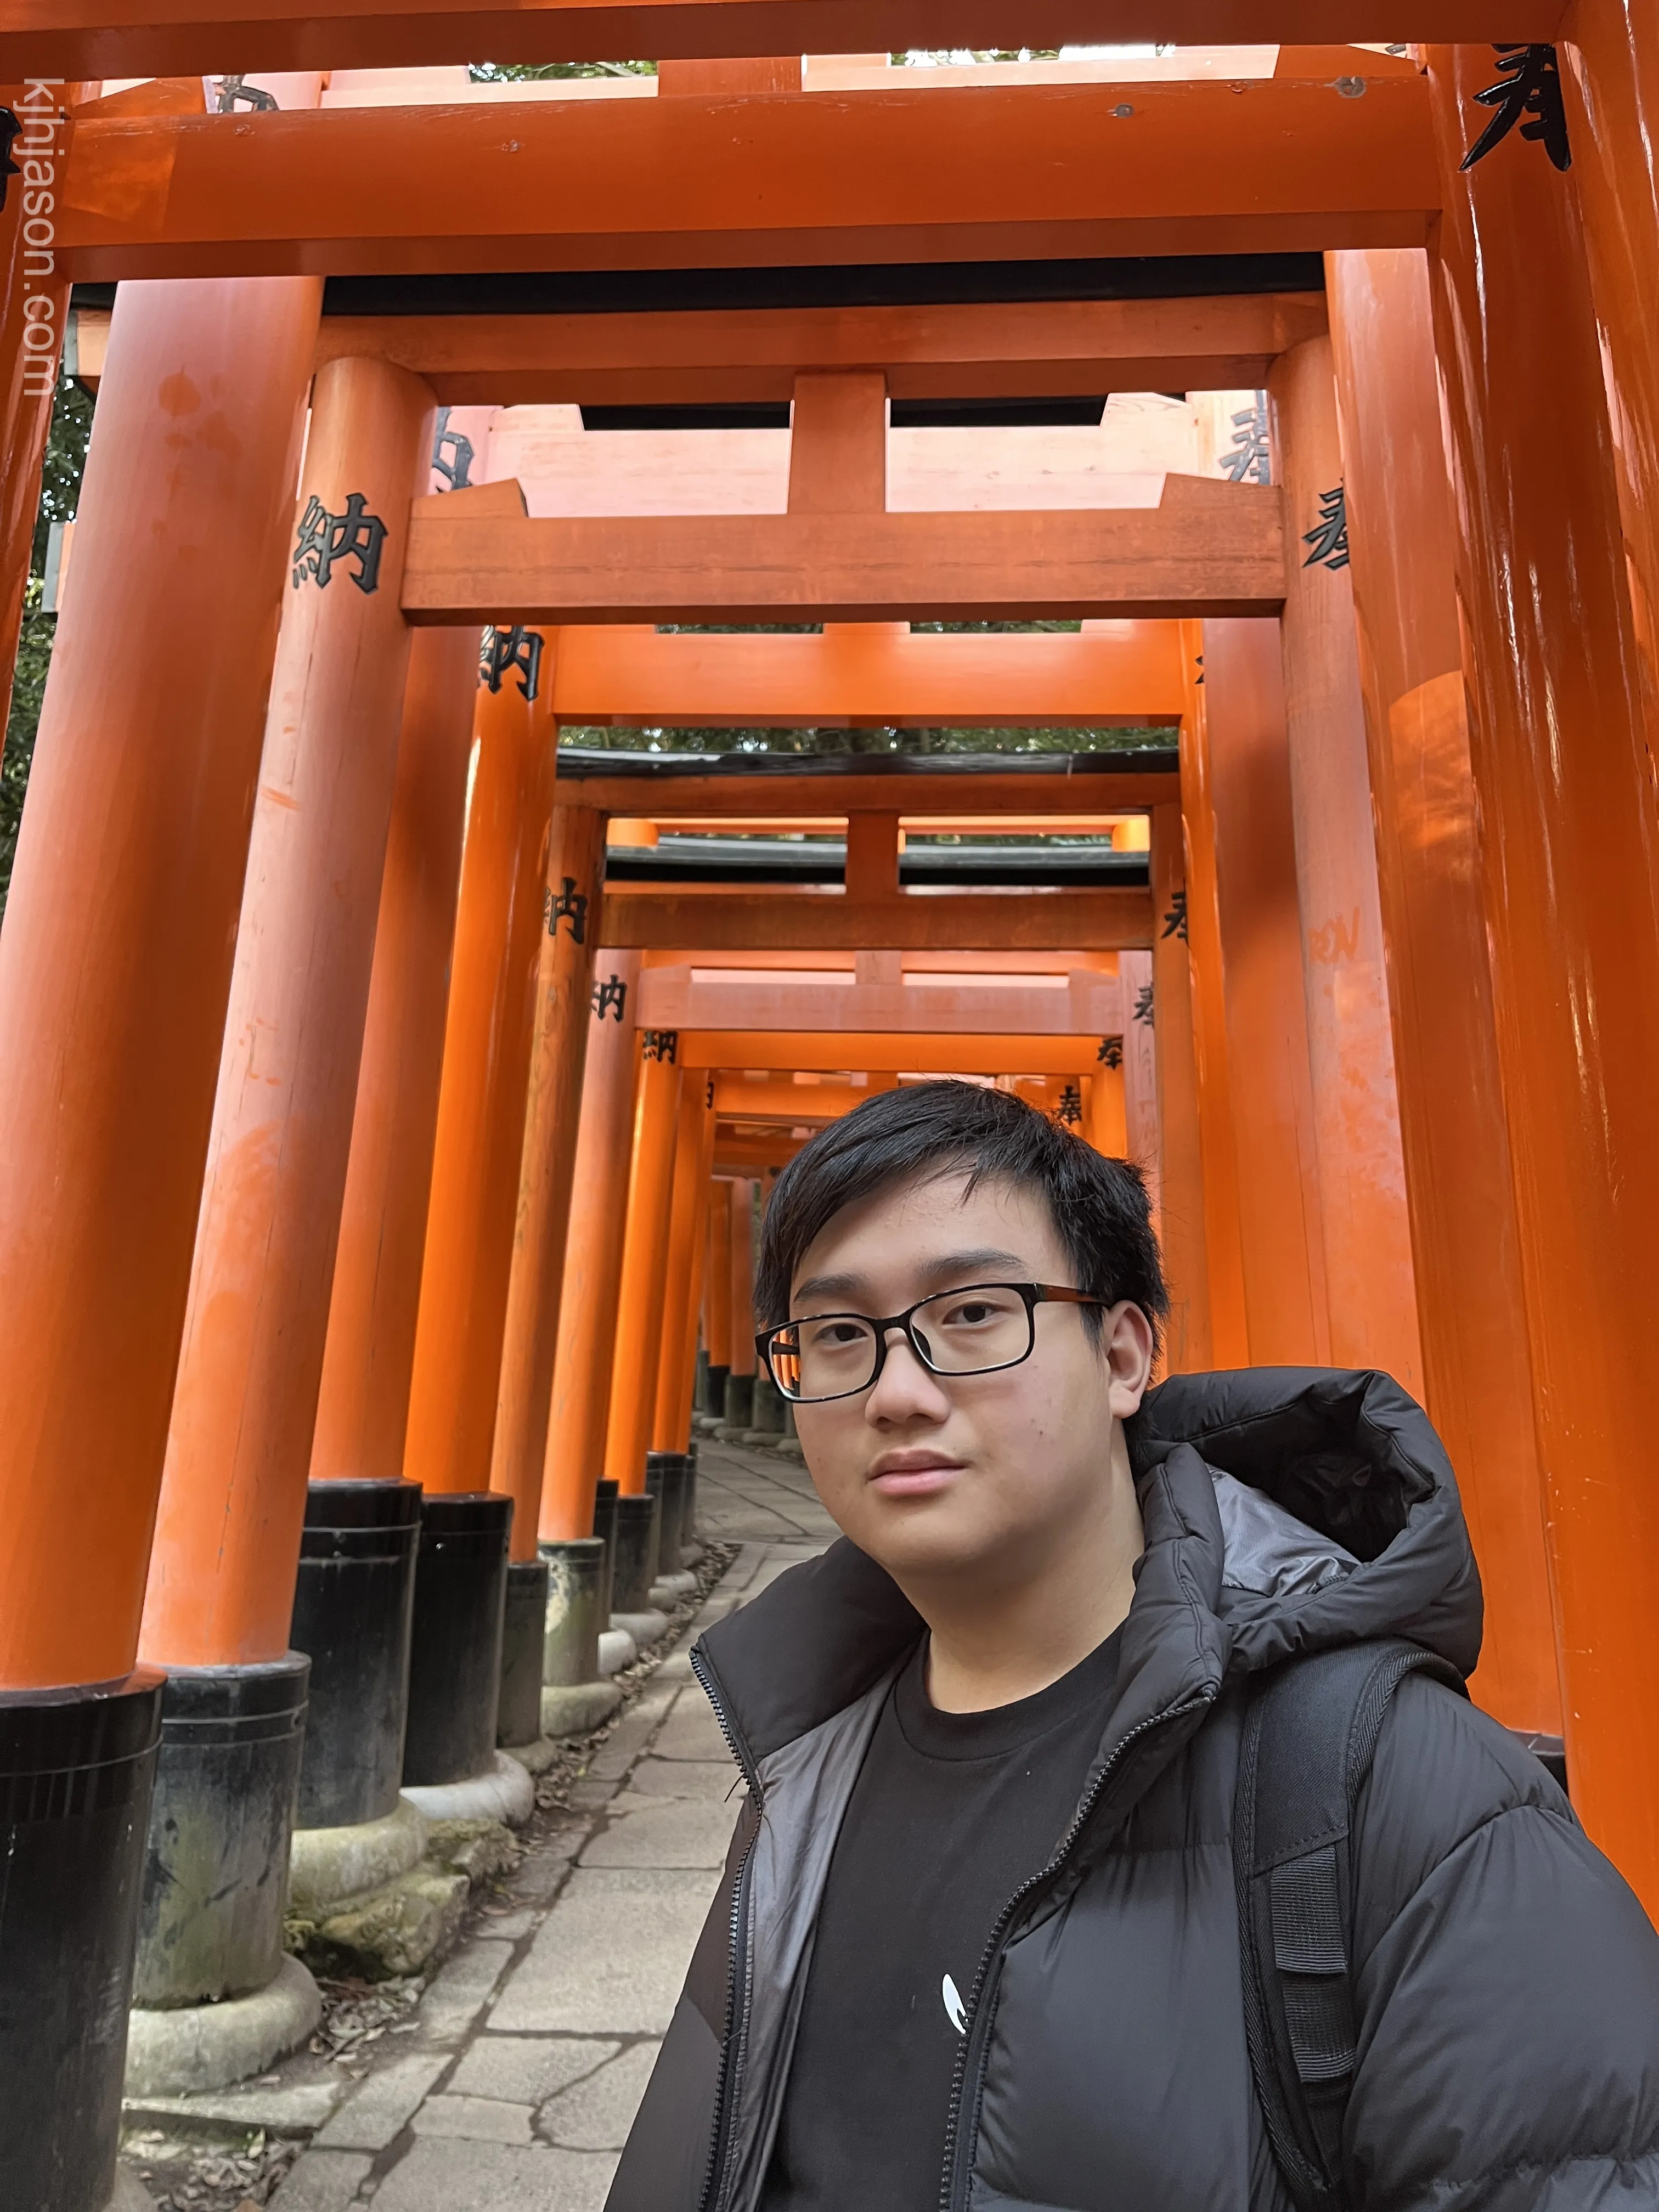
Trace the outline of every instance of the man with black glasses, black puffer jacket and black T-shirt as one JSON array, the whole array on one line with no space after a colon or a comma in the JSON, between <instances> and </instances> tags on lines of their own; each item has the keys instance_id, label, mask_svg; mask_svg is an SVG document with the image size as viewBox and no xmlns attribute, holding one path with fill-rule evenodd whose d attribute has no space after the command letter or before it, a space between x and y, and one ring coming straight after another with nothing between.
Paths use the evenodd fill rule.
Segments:
<instances>
[{"instance_id":1,"label":"man with black glasses, black puffer jacket and black T-shirt","mask_svg":"<svg viewBox=\"0 0 1659 2212\"><path fill-rule=\"evenodd\" d=\"M799 1155L757 1303L847 1542L695 1652L750 1796L611 2212L1305 2201L1245 2035L1239 1743L1294 1655L1473 1668L1427 1420L1383 1376L1148 1396L1137 1172L969 1084ZM1544 1767L1407 1674L1349 1867L1327 2201L1659 2203L1659 1938Z\"/></svg>"}]
</instances>

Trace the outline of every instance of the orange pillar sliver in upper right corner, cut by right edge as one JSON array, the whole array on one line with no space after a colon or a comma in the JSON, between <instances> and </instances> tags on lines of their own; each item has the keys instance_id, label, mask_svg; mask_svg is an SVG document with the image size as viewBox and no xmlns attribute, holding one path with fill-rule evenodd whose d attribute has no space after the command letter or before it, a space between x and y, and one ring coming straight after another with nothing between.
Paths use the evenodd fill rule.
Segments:
<instances>
[{"instance_id":1,"label":"orange pillar sliver in upper right corner, cut by right edge","mask_svg":"<svg viewBox=\"0 0 1659 2212\"><path fill-rule=\"evenodd\" d=\"M1637 650L1659 750L1659 20L1648 0L1573 0L1559 46L1566 135L1619 482Z\"/></svg>"}]
</instances>

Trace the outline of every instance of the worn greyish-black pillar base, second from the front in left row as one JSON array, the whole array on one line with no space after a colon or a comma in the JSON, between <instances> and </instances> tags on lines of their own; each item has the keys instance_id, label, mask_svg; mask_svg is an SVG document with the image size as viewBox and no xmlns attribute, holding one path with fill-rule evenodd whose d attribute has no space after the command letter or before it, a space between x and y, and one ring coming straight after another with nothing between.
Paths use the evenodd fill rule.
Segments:
<instances>
[{"instance_id":1,"label":"worn greyish-black pillar base, second from the front in left row","mask_svg":"<svg viewBox=\"0 0 1659 2212\"><path fill-rule=\"evenodd\" d=\"M310 1672L301 1652L168 1670L135 2004L210 2004L276 1980Z\"/></svg>"}]
</instances>

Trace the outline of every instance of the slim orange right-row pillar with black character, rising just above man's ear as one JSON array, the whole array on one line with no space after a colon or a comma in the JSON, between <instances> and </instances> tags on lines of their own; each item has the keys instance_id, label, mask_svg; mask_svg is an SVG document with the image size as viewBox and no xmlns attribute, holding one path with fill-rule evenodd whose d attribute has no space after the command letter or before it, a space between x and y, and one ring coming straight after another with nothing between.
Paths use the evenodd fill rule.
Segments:
<instances>
[{"instance_id":1,"label":"slim orange right-row pillar with black character, rising just above man's ear","mask_svg":"<svg viewBox=\"0 0 1659 2212\"><path fill-rule=\"evenodd\" d=\"M1152 1037L1157 1044L1157 1124L1164 1270L1170 1279L1166 1367L1210 1367L1210 1261L1203 1248L1203 1159L1199 1079L1192 1053L1192 971L1188 962L1186 856L1181 807L1152 810Z\"/></svg>"}]
</instances>

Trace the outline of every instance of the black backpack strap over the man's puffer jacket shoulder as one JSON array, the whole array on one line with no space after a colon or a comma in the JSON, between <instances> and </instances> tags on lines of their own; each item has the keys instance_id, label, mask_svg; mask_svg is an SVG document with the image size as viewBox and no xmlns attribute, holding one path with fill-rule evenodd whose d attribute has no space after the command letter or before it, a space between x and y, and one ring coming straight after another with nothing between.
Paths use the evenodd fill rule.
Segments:
<instances>
[{"instance_id":1,"label":"black backpack strap over the man's puffer jacket shoulder","mask_svg":"<svg viewBox=\"0 0 1659 2212\"><path fill-rule=\"evenodd\" d=\"M1298 2212L1343 2212L1354 2086L1349 1823L1389 1699L1462 1674L1416 1644L1352 1644L1263 1674L1245 1710L1232 1818L1245 2042L1267 2139Z\"/></svg>"}]
</instances>

